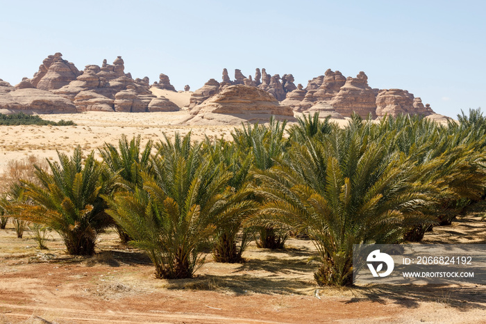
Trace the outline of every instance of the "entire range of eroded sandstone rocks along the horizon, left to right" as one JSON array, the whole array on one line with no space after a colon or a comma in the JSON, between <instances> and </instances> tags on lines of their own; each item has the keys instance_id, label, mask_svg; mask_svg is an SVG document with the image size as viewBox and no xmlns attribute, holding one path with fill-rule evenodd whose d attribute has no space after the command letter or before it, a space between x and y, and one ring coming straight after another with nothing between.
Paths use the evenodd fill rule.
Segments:
<instances>
[{"instance_id":1,"label":"entire range of eroded sandstone rocks along the horizon, left to right","mask_svg":"<svg viewBox=\"0 0 486 324\"><path fill-rule=\"evenodd\" d=\"M15 88L0 81L0 90L3 94L17 90L49 90L55 95L69 99L76 105L77 111L139 112L174 111L177 110L176 106L193 108L221 93L224 93L225 97L231 94L248 95L243 90L236 91L231 88L241 85L267 92L276 102L281 102L283 106L291 107L294 111L319 111L335 118L349 117L353 111L363 118L369 113L373 117L399 113L434 114L430 106L424 106L420 98L414 98L406 90L372 89L368 86L364 72L360 72L355 78L346 79L341 72L328 69L324 75L309 80L306 88L301 84L296 86L294 81L292 74L283 74L281 78L279 74L270 76L265 68L261 72L260 69L255 69L254 79L251 75L246 77L241 70L235 69L235 80L232 81L225 68L221 83L210 79L202 88L191 93L187 93L190 87L186 85L186 93L180 92L184 97L182 98L176 96L179 92L176 92L169 76L165 74L160 74L159 80L154 82L152 87L146 76L142 79L133 79L130 73L124 71L124 60L121 56L112 64L108 64L105 59L101 66L86 65L80 72L73 63L62 59L62 54L56 53L44 59L32 79L22 79ZM233 90L226 92L228 88ZM22 92L19 92L19 95L21 94ZM45 97L45 94L43 96ZM5 100L12 102L11 96ZM49 100L54 100L54 97L50 97ZM62 106L61 103L57 105ZM65 111L71 108L65 106L60 109Z\"/></svg>"}]
</instances>

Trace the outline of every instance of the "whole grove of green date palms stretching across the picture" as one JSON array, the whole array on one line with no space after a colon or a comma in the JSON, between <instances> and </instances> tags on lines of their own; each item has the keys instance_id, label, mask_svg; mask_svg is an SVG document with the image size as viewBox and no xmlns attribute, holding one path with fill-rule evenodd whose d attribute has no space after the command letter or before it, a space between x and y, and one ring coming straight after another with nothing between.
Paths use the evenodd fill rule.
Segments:
<instances>
[{"instance_id":1,"label":"whole grove of green date palms stretching across the picture","mask_svg":"<svg viewBox=\"0 0 486 324\"><path fill-rule=\"evenodd\" d=\"M80 255L115 227L166 279L192 277L204 249L240 262L253 239L283 248L299 235L317 248L317 284L349 285L353 244L420 241L484 198L485 132L478 109L444 126L353 115L340 128L309 115L244 125L232 141L122 137L99 149L101 161L77 148L36 167L3 198L0 219L49 226Z\"/></svg>"}]
</instances>

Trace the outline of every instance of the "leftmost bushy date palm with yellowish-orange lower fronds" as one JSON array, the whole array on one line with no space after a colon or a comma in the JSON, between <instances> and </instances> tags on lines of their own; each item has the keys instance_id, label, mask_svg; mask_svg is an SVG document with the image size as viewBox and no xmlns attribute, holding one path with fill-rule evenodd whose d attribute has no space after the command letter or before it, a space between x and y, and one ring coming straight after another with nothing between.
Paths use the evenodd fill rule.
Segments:
<instances>
[{"instance_id":1,"label":"leftmost bushy date palm with yellowish-orange lower fronds","mask_svg":"<svg viewBox=\"0 0 486 324\"><path fill-rule=\"evenodd\" d=\"M58 232L69 254L93 254L97 236L112 225L101 195L112 191L114 179L94 152L83 159L81 147L76 147L71 157L60 152L58 157L59 163L49 161L49 170L36 166L40 184L22 181L33 204L16 204L12 210L15 217Z\"/></svg>"}]
</instances>

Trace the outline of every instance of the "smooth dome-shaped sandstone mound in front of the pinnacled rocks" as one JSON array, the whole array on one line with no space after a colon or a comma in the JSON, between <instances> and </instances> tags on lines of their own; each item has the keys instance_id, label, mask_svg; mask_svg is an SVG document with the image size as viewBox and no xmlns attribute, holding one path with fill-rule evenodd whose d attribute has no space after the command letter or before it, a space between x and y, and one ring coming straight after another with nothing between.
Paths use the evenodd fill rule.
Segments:
<instances>
[{"instance_id":1,"label":"smooth dome-shaped sandstone mound in front of the pinnacled rocks","mask_svg":"<svg viewBox=\"0 0 486 324\"><path fill-rule=\"evenodd\" d=\"M294 120L289 106L283 106L264 90L256 87L228 86L218 95L191 110L190 124L239 124L242 120L267 122L270 116Z\"/></svg>"}]
</instances>

